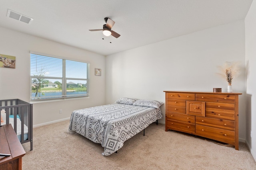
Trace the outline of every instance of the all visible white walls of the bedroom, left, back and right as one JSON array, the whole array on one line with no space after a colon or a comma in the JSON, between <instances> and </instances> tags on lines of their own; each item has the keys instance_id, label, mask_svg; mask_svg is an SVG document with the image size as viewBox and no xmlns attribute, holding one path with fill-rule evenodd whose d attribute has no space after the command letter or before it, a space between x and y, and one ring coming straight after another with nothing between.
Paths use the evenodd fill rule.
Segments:
<instances>
[{"instance_id":1,"label":"all visible white walls of the bedroom, left, back and right","mask_svg":"<svg viewBox=\"0 0 256 170\"><path fill-rule=\"evenodd\" d=\"M0 99L19 98L30 102L29 51L90 62L91 72L90 98L34 103L35 126L69 119L74 109L110 104L121 97L165 102L164 90L212 91L212 88L222 88L226 91L227 82L216 74L217 66L225 61L242 61L242 67L248 68L247 79L246 71L242 69L232 86L234 92L243 93L239 96L240 141L246 139L255 158L256 98L253 92L256 80L252 74L256 65L255 8L253 2L246 17L246 29L243 20L236 21L106 58L0 27L0 54L16 56L15 69L0 68ZM102 76L94 76L94 68L102 68ZM63 110L62 114L59 109ZM161 109L164 115L164 106ZM164 119L160 122L164 123Z\"/></svg>"}]
</instances>

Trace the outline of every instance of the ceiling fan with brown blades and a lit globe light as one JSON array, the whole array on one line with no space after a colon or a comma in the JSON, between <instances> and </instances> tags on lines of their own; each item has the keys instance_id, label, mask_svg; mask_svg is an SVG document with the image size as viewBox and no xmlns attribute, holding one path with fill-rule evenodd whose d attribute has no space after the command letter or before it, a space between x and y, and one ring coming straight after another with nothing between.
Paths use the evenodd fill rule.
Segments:
<instances>
[{"instance_id":1,"label":"ceiling fan with brown blades and a lit globe light","mask_svg":"<svg viewBox=\"0 0 256 170\"><path fill-rule=\"evenodd\" d=\"M112 35L113 37L116 37L116 38L120 37L120 34L111 30L115 22L107 17L104 18L104 21L106 22L106 24L103 25L103 29L89 29L89 31L102 31L103 35L105 36Z\"/></svg>"}]
</instances>

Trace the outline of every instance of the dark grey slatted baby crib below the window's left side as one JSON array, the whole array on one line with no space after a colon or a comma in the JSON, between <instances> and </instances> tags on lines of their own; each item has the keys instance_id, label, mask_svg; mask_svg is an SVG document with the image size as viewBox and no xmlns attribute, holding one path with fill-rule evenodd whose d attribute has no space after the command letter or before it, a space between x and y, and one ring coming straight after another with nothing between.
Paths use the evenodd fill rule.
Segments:
<instances>
[{"instance_id":1,"label":"dark grey slatted baby crib below the window's left side","mask_svg":"<svg viewBox=\"0 0 256 170\"><path fill-rule=\"evenodd\" d=\"M0 125L11 124L20 143L30 142L33 150L33 104L19 99L0 100Z\"/></svg>"}]
</instances>

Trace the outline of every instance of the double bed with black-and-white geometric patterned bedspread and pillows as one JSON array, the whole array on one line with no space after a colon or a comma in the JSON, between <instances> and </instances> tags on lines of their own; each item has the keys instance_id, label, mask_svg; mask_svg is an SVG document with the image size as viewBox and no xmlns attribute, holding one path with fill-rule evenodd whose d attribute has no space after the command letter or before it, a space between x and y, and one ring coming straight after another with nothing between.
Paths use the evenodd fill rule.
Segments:
<instances>
[{"instance_id":1,"label":"double bed with black-and-white geometric patterned bedspread and pillows","mask_svg":"<svg viewBox=\"0 0 256 170\"><path fill-rule=\"evenodd\" d=\"M68 130L100 143L104 147L102 155L108 156L117 152L124 141L162 119L162 104L155 100L120 98L114 104L75 110Z\"/></svg>"}]
</instances>

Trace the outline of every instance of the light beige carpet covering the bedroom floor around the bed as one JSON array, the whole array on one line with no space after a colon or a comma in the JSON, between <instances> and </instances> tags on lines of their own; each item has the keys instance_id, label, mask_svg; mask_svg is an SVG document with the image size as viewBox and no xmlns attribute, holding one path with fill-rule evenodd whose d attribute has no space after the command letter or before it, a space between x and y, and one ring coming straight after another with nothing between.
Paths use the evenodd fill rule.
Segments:
<instances>
[{"instance_id":1,"label":"light beige carpet covering the bedroom floor around the bed","mask_svg":"<svg viewBox=\"0 0 256 170\"><path fill-rule=\"evenodd\" d=\"M23 170L256 170L256 162L244 143L240 150L199 137L164 131L151 124L110 156L104 148L68 131L69 121L34 128L33 150L22 144Z\"/></svg>"}]
</instances>

